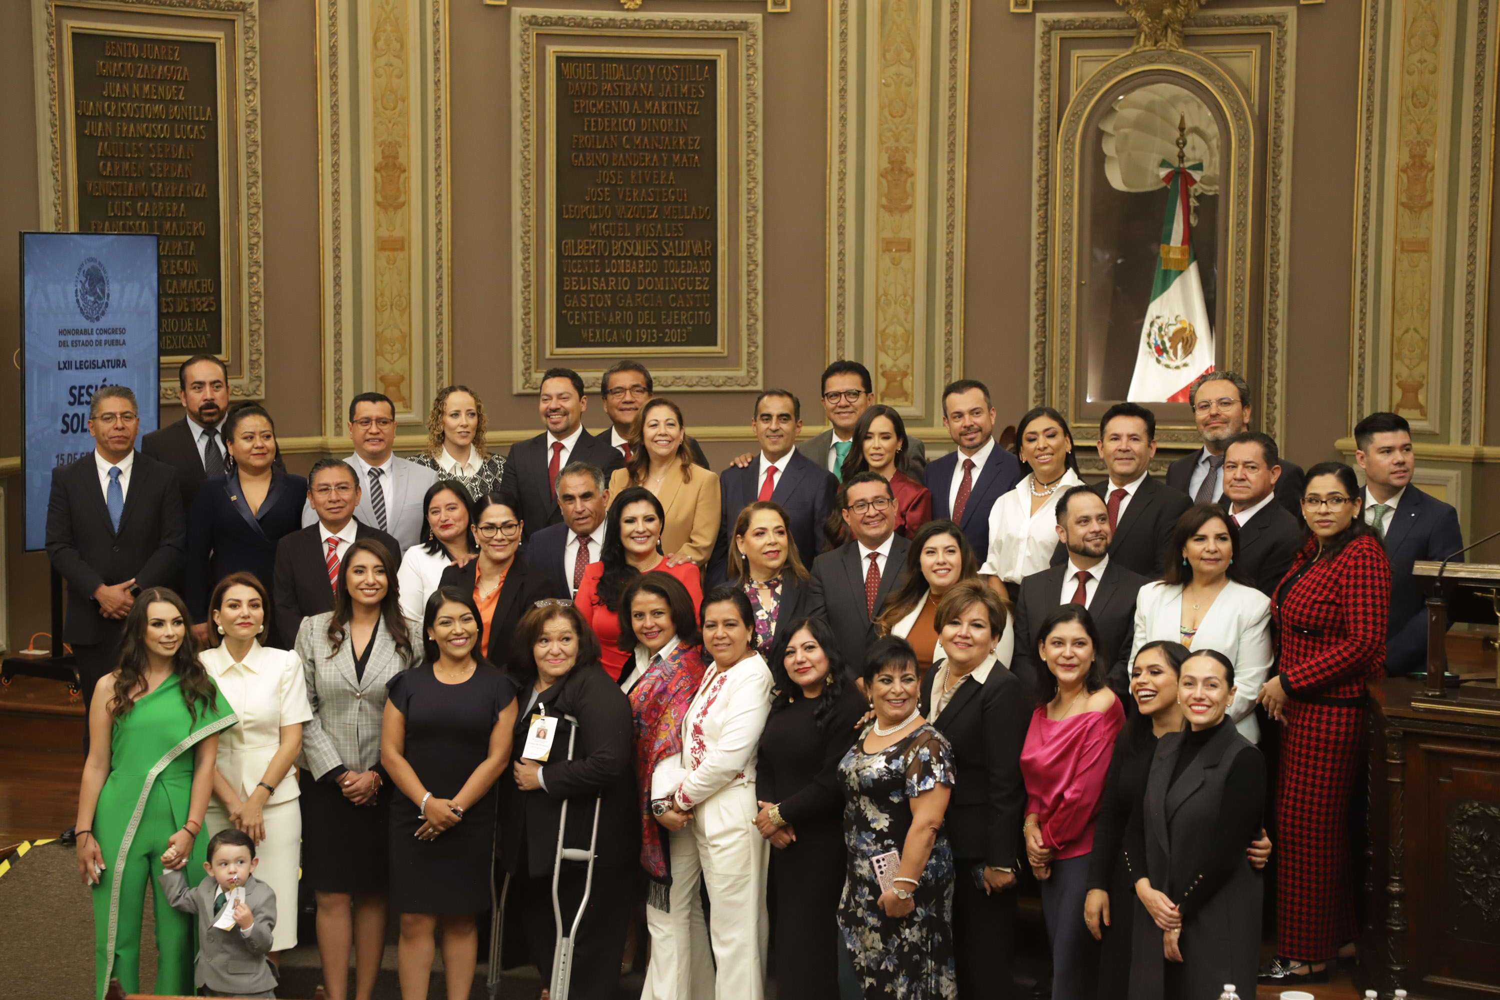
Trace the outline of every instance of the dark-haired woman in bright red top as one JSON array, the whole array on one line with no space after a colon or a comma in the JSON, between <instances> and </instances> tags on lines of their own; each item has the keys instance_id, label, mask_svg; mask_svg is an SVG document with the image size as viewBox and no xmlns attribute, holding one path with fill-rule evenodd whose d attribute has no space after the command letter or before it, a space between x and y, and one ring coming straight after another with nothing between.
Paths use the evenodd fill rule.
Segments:
<instances>
[{"instance_id":1,"label":"dark-haired woman in bright red top","mask_svg":"<svg viewBox=\"0 0 1500 1000\"><path fill-rule=\"evenodd\" d=\"M704 600L698 564L672 562L662 555L662 501L644 486L630 486L614 499L604 516L604 544L598 562L584 570L584 582L573 597L602 648L604 673L621 681L627 676L630 654L620 648L620 600L626 586L642 573L660 570L678 579L693 597L696 609ZM716 522L717 523L717 522Z\"/></svg>"}]
</instances>

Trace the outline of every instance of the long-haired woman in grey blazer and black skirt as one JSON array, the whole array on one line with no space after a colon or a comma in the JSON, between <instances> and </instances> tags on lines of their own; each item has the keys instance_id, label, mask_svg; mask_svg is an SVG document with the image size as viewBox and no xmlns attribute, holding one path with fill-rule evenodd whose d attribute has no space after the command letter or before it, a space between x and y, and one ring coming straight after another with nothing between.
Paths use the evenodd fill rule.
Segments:
<instances>
[{"instance_id":1,"label":"long-haired woman in grey blazer and black skirt","mask_svg":"<svg viewBox=\"0 0 1500 1000\"><path fill-rule=\"evenodd\" d=\"M297 655L312 720L302 729L302 877L318 901L330 1000L369 997L386 948L392 786L380 762L387 682L418 663L400 613L396 559L372 538L339 564L333 610L304 618Z\"/></svg>"}]
</instances>

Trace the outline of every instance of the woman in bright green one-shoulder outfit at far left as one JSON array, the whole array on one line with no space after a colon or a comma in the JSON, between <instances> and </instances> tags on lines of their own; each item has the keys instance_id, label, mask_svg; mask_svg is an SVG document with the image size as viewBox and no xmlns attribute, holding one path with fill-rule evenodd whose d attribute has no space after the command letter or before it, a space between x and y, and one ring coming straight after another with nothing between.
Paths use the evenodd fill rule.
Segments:
<instances>
[{"instance_id":1,"label":"woman in bright green one-shoulder outfit at far left","mask_svg":"<svg viewBox=\"0 0 1500 1000\"><path fill-rule=\"evenodd\" d=\"M152 882L159 994L194 993L194 918L162 894L162 858L188 855L202 880L198 843L213 790L219 732L236 724L198 663L183 600L165 588L135 598L120 639L120 666L99 681L88 714L90 748L78 793L78 873L93 888L94 975L141 987L141 916ZM192 751L190 754L188 751Z\"/></svg>"}]
</instances>

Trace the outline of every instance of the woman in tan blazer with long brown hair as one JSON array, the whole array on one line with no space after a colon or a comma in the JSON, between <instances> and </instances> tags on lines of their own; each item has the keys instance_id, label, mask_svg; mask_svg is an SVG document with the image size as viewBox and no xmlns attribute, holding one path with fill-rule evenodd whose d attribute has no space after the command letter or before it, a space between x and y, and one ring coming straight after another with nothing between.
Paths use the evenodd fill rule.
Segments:
<instances>
[{"instance_id":1,"label":"woman in tan blazer with long brown hair","mask_svg":"<svg viewBox=\"0 0 1500 1000\"><path fill-rule=\"evenodd\" d=\"M644 486L662 504L662 549L704 565L718 537L718 474L693 463L682 411L652 399L630 424L630 444L626 466L609 477L615 504L626 489Z\"/></svg>"}]
</instances>

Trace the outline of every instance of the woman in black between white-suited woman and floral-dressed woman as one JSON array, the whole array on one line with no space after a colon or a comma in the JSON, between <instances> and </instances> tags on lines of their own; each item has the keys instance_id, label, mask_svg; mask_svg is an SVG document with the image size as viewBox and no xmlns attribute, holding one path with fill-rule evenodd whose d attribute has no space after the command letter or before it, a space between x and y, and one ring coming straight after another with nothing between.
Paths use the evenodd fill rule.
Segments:
<instances>
[{"instance_id":1,"label":"woman in black between white-suited woman and floral-dressed woman","mask_svg":"<svg viewBox=\"0 0 1500 1000\"><path fill-rule=\"evenodd\" d=\"M838 762L858 736L866 700L844 679L834 631L801 618L772 654L771 717L756 760L756 829L771 841L776 903L776 996L820 1000L838 993L838 895L843 892L843 786Z\"/></svg>"}]
</instances>

